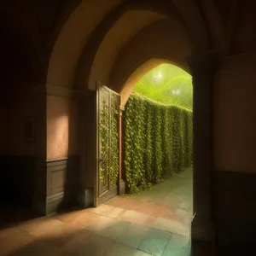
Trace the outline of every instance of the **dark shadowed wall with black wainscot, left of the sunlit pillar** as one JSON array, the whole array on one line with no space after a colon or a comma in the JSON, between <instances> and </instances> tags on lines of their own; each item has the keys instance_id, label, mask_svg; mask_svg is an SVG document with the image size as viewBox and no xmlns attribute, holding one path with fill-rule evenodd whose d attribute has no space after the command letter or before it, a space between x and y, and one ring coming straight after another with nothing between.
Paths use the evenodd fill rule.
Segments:
<instances>
[{"instance_id":1,"label":"dark shadowed wall with black wainscot, left of the sunlit pillar","mask_svg":"<svg viewBox=\"0 0 256 256\"><path fill-rule=\"evenodd\" d=\"M35 101L31 90L13 90L6 95L5 108L0 112L0 201L18 202L26 207L32 206L35 158L40 143L36 134L32 140L24 138L23 125L25 119L38 119Z\"/></svg>"}]
</instances>

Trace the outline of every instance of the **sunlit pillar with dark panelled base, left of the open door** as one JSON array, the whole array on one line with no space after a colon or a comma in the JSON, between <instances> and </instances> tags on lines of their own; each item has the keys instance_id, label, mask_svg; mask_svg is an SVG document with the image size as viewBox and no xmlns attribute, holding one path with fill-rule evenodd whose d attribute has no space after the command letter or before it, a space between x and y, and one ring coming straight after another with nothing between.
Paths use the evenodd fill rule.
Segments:
<instances>
[{"instance_id":1,"label":"sunlit pillar with dark panelled base, left of the open door","mask_svg":"<svg viewBox=\"0 0 256 256\"><path fill-rule=\"evenodd\" d=\"M79 154L74 138L77 116L73 109L76 107L76 101L73 90L48 84L39 85L33 90L38 99L37 143L39 148L35 168L33 208L43 215L49 215L62 211L75 202L74 194L78 188L79 172ZM62 125L63 117L67 125ZM53 139L59 138L55 137L55 134L60 135L60 132L61 139L52 143ZM52 148L55 149L55 145L60 145L63 141L66 141L67 152L59 147L55 152L59 154L63 151L64 153L52 154Z\"/></svg>"}]
</instances>

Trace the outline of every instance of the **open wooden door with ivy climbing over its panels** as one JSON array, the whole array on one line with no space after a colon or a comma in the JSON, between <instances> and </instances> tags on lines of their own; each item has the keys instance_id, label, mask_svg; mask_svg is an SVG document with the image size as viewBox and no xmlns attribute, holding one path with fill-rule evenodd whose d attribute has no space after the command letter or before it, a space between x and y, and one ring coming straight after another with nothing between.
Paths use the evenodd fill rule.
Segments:
<instances>
[{"instance_id":1,"label":"open wooden door with ivy climbing over its panels","mask_svg":"<svg viewBox=\"0 0 256 256\"><path fill-rule=\"evenodd\" d=\"M95 206L117 195L119 177L120 96L96 83L96 198Z\"/></svg>"}]
</instances>

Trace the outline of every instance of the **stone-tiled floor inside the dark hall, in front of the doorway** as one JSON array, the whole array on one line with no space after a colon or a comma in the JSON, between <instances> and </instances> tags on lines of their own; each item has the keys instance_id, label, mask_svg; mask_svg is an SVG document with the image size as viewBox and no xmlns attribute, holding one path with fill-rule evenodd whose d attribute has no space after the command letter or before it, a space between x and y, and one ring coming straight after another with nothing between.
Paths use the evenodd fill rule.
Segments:
<instances>
[{"instance_id":1,"label":"stone-tiled floor inside the dark hall, in front of the doorway","mask_svg":"<svg viewBox=\"0 0 256 256\"><path fill-rule=\"evenodd\" d=\"M188 239L81 210L0 230L0 255L189 256Z\"/></svg>"}]
</instances>

